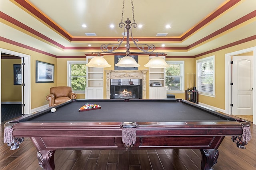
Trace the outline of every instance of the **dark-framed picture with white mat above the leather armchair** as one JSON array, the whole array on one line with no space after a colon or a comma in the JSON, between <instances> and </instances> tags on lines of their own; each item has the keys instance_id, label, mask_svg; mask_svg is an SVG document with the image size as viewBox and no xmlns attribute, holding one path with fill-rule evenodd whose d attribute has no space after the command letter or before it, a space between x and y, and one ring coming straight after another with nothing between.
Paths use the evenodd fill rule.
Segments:
<instances>
[{"instance_id":1,"label":"dark-framed picture with white mat above the leather armchair","mask_svg":"<svg viewBox=\"0 0 256 170\"><path fill-rule=\"evenodd\" d=\"M54 64L36 61L36 83L54 82Z\"/></svg>"}]
</instances>

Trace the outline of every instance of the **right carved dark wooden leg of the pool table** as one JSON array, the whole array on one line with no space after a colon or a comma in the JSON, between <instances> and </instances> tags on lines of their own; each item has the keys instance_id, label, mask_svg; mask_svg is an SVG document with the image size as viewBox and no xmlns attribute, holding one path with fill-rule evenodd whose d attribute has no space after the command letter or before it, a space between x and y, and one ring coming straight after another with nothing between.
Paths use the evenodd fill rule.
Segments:
<instances>
[{"instance_id":1,"label":"right carved dark wooden leg of the pool table","mask_svg":"<svg viewBox=\"0 0 256 170\"><path fill-rule=\"evenodd\" d=\"M217 149L200 149L202 154L201 169L211 170L217 163L219 151Z\"/></svg>"}]
</instances>

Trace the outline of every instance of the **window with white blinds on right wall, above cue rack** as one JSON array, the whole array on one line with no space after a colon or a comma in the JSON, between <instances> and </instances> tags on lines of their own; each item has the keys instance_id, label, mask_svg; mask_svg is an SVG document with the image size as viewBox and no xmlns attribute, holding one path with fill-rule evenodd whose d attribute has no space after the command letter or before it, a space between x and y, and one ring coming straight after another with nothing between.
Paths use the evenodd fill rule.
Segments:
<instances>
[{"instance_id":1,"label":"window with white blinds on right wall, above cue rack","mask_svg":"<svg viewBox=\"0 0 256 170\"><path fill-rule=\"evenodd\" d=\"M196 61L197 90L204 95L215 96L214 57L206 57Z\"/></svg>"}]
</instances>

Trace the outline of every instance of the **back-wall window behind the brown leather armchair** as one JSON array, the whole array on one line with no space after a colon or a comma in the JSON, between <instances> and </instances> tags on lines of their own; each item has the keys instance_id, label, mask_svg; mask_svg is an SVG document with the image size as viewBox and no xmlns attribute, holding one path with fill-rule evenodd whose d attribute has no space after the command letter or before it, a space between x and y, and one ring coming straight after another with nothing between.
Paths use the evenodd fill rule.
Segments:
<instances>
[{"instance_id":1,"label":"back-wall window behind the brown leather armchair","mask_svg":"<svg viewBox=\"0 0 256 170\"><path fill-rule=\"evenodd\" d=\"M68 61L68 86L76 93L85 93L86 61Z\"/></svg>"}]
</instances>

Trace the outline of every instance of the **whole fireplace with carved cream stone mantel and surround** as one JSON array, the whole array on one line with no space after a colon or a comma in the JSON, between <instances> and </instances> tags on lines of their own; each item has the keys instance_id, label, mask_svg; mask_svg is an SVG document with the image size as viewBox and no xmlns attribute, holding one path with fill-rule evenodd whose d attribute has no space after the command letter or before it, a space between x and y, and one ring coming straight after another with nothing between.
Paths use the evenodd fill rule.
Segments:
<instances>
[{"instance_id":1,"label":"whole fireplace with carved cream stone mantel and surround","mask_svg":"<svg viewBox=\"0 0 256 170\"><path fill-rule=\"evenodd\" d=\"M148 70L105 70L106 98L146 98Z\"/></svg>"}]
</instances>

